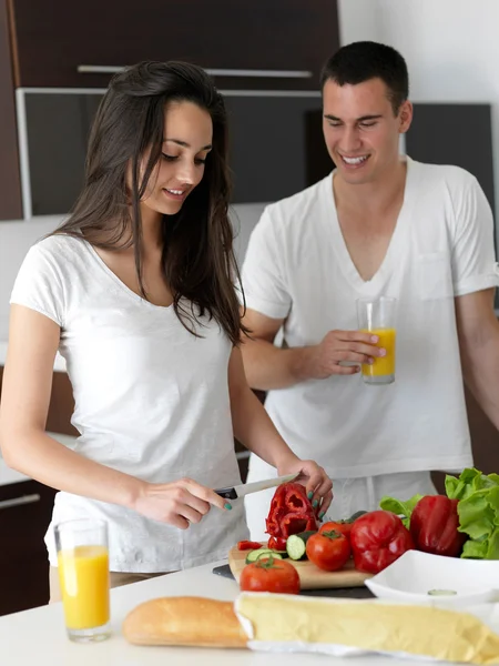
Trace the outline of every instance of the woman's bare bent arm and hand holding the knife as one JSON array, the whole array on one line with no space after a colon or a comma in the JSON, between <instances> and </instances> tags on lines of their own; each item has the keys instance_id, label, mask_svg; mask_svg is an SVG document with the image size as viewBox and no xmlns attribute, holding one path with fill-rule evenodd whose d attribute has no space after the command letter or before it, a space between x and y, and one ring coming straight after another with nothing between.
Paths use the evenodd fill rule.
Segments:
<instances>
[{"instance_id":1,"label":"woman's bare bent arm and hand holding the knife","mask_svg":"<svg viewBox=\"0 0 499 666\"><path fill-rule=\"evenodd\" d=\"M0 403L0 447L6 463L41 483L75 495L120 504L187 527L224 501L191 480L149 484L74 453L45 434L60 327L51 319L12 305Z\"/></svg>"}]
</instances>

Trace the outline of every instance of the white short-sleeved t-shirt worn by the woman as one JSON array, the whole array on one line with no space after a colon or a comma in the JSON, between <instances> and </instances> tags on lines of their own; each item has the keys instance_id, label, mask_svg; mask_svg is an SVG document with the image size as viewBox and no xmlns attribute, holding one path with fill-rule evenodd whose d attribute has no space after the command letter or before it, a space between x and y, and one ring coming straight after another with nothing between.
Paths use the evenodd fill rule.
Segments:
<instances>
[{"instance_id":1,"label":"white short-sleeved t-shirt worn by the woman","mask_svg":"<svg viewBox=\"0 0 499 666\"><path fill-rule=\"evenodd\" d=\"M202 337L173 306L141 299L86 241L50 236L31 248L12 303L61 326L59 351L74 393L72 424L82 456L152 483L191 477L208 487L241 483L234 453L227 366L232 344L205 316ZM243 503L212 507L182 531L114 504L60 492L45 541L57 564L52 525L108 521L110 568L167 572L226 557L247 537Z\"/></svg>"}]
</instances>

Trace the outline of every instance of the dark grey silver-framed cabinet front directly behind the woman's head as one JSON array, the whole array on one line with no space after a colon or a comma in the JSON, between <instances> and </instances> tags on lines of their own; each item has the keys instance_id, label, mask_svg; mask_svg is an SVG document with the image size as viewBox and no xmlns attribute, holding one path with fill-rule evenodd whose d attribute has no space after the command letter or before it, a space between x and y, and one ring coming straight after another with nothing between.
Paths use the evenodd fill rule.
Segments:
<instances>
[{"instance_id":1,"label":"dark grey silver-framed cabinet front directly behind the woman's head","mask_svg":"<svg viewBox=\"0 0 499 666\"><path fill-rule=\"evenodd\" d=\"M278 95L231 91L224 97L232 203L276 201L315 182L310 167L317 170L317 155L325 151L318 91ZM88 137L102 93L23 90L22 99L31 213L63 215L82 188ZM327 162L330 171L329 158Z\"/></svg>"}]
</instances>

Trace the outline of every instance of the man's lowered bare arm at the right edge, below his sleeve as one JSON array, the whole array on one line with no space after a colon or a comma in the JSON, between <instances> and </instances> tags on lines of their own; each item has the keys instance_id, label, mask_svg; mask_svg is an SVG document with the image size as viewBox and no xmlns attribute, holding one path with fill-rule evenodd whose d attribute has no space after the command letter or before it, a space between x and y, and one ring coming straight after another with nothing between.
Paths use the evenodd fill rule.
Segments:
<instances>
[{"instance_id":1,"label":"man's lowered bare arm at the right edge, below his sleeve","mask_svg":"<svg viewBox=\"0 0 499 666\"><path fill-rule=\"evenodd\" d=\"M465 382L499 430L499 322L493 289L456 299L456 315Z\"/></svg>"}]
</instances>

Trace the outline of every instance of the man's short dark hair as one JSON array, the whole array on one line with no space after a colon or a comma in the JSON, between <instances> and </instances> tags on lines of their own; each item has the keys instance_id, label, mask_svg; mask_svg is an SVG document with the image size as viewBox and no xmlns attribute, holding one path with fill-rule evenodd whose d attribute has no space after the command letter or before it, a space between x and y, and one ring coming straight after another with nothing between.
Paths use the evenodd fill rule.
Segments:
<instances>
[{"instance_id":1,"label":"man's short dark hair","mask_svg":"<svg viewBox=\"0 0 499 666\"><path fill-rule=\"evenodd\" d=\"M361 41L342 47L323 67L320 90L329 79L338 85L381 79L388 88L395 115L409 97L406 61L398 51L378 42Z\"/></svg>"}]
</instances>

